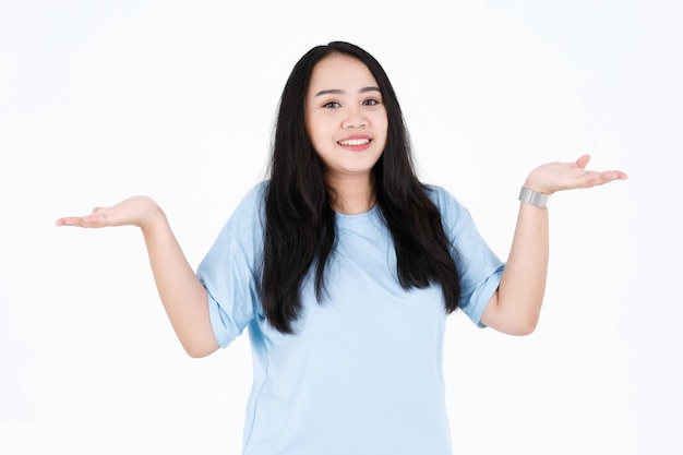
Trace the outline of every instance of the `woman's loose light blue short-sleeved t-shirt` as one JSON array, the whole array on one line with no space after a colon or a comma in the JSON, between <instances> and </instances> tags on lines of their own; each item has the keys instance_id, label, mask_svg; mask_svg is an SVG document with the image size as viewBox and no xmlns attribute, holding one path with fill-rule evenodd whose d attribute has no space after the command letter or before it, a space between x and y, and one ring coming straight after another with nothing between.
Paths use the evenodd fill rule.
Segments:
<instances>
[{"instance_id":1,"label":"woman's loose light blue short-sleeved t-shirt","mask_svg":"<svg viewBox=\"0 0 683 455\"><path fill-rule=\"evenodd\" d=\"M337 214L328 298L319 303L307 279L296 334L275 331L257 291L266 185L244 197L197 270L218 344L227 346L249 327L254 371L243 453L451 454L441 287L400 287L392 237L376 206ZM453 244L462 309L482 326L504 264L467 209L443 189L429 190Z\"/></svg>"}]
</instances>

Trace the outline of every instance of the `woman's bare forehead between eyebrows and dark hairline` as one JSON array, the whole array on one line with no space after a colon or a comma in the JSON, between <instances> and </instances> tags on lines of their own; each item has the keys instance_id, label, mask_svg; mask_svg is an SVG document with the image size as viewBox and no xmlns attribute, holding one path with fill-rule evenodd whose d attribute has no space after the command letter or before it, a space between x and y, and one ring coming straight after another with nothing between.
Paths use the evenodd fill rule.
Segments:
<instances>
[{"instance_id":1,"label":"woman's bare forehead between eyebrows and dark hairline","mask_svg":"<svg viewBox=\"0 0 683 455\"><path fill-rule=\"evenodd\" d=\"M313 67L309 93L356 91L369 86L378 86L378 83L366 63L345 53L332 53Z\"/></svg>"}]
</instances>

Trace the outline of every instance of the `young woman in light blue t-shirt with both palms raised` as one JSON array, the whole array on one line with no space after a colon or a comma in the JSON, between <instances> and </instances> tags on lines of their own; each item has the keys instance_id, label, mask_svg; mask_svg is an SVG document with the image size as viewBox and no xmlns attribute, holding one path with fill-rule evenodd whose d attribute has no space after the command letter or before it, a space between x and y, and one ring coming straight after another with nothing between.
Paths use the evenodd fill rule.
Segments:
<instances>
[{"instance_id":1,"label":"young woman in light blue t-shirt with both palms raised","mask_svg":"<svg viewBox=\"0 0 683 455\"><path fill-rule=\"evenodd\" d=\"M503 263L447 192L415 175L380 63L347 43L307 52L281 95L269 178L241 202L196 273L161 208L135 196L58 225L142 229L190 356L245 327L254 352L245 454L448 454L446 315L534 331L548 263L546 199L621 171L588 156L534 169Z\"/></svg>"}]
</instances>

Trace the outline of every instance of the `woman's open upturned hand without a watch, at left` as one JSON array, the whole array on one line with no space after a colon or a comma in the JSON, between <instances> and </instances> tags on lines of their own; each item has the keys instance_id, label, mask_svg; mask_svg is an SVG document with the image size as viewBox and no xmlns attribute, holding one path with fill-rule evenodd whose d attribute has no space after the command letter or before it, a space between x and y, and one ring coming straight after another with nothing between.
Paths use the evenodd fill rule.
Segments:
<instances>
[{"instance_id":1,"label":"woman's open upturned hand without a watch, at left","mask_svg":"<svg viewBox=\"0 0 683 455\"><path fill-rule=\"evenodd\" d=\"M144 230L160 213L161 208L151 197L133 196L111 207L96 207L89 215L59 218L56 225L85 228L137 226Z\"/></svg>"}]
</instances>

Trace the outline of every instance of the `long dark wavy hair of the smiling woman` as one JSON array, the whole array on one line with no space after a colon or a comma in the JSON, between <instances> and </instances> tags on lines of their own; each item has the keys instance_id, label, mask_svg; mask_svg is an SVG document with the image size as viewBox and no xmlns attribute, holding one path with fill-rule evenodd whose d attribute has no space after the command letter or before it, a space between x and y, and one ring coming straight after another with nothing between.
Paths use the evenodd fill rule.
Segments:
<instances>
[{"instance_id":1,"label":"long dark wavy hair of the smiling woman","mask_svg":"<svg viewBox=\"0 0 683 455\"><path fill-rule=\"evenodd\" d=\"M394 88L380 63L349 43L309 50L292 69L279 100L265 195L261 297L277 331L293 333L301 315L300 289L314 267L317 301L325 297L325 266L336 244L335 212L323 163L304 122L305 95L317 62L344 53L363 62L374 76L388 119L384 152L373 168L374 201L396 250L397 279L405 289L440 284L445 311L456 310L459 276L450 253L441 214L416 177L410 140Z\"/></svg>"}]
</instances>

